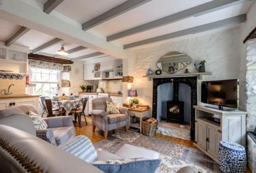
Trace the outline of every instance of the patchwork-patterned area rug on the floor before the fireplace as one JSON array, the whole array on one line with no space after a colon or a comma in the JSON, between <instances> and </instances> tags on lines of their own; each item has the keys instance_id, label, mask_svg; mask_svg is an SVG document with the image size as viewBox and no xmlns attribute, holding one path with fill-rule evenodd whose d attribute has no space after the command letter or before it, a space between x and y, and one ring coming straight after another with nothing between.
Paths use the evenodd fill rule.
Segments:
<instances>
[{"instance_id":1,"label":"patchwork-patterned area rug on the floor before the fireplace","mask_svg":"<svg viewBox=\"0 0 256 173\"><path fill-rule=\"evenodd\" d=\"M159 172L176 172L184 166L194 167L200 172L220 172L218 163L198 149L164 139L147 137L134 131L116 131L108 139L101 140L94 146L97 151L115 153L125 143L158 152L161 159L157 169Z\"/></svg>"}]
</instances>

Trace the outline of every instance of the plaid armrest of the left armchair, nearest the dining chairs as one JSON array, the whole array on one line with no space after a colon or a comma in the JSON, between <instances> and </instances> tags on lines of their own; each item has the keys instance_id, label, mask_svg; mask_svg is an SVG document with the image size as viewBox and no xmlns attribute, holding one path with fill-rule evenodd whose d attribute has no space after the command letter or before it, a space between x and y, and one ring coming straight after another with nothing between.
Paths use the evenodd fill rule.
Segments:
<instances>
[{"instance_id":1,"label":"plaid armrest of the left armchair, nearest the dining chairs","mask_svg":"<svg viewBox=\"0 0 256 173\"><path fill-rule=\"evenodd\" d=\"M44 118L46 121L48 128L58 128L58 127L69 127L74 126L73 125L73 119L72 116L54 116L54 117L48 117Z\"/></svg>"}]
</instances>

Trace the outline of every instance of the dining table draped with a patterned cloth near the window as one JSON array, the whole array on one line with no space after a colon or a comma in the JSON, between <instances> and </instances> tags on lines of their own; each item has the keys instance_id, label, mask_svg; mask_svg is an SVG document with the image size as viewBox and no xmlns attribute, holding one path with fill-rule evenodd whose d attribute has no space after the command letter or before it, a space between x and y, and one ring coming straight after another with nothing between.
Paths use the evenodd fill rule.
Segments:
<instances>
[{"instance_id":1,"label":"dining table draped with a patterned cloth near the window","mask_svg":"<svg viewBox=\"0 0 256 173\"><path fill-rule=\"evenodd\" d=\"M63 109L66 110L66 115L69 115L71 110L73 108L77 107L77 104L79 103L79 98L66 99L66 100L58 100L58 102L56 102L56 100L52 100L53 107L58 107L58 103L59 103L59 107L60 108L63 108ZM80 108L80 106L79 106L79 108Z\"/></svg>"}]
</instances>

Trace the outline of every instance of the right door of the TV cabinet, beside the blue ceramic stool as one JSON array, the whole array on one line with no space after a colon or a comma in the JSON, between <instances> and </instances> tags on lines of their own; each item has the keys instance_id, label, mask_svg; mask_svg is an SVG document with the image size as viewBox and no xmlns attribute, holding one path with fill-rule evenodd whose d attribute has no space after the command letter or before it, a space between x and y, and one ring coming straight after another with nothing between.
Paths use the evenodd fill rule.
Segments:
<instances>
[{"instance_id":1,"label":"right door of the TV cabinet, beside the blue ceramic stool","mask_svg":"<svg viewBox=\"0 0 256 173\"><path fill-rule=\"evenodd\" d=\"M207 140L207 151L211 155L215 156L217 158L218 151L219 151L219 144L221 141L221 133L218 129L207 127L208 132L208 140Z\"/></svg>"}]
</instances>

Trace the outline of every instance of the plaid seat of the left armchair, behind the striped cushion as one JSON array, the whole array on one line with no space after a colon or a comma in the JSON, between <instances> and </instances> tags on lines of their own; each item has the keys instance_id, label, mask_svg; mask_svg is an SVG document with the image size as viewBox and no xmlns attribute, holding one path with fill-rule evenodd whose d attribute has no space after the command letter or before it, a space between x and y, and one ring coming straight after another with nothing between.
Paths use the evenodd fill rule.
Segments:
<instances>
[{"instance_id":1,"label":"plaid seat of the left armchair, behind the striped cushion","mask_svg":"<svg viewBox=\"0 0 256 173\"><path fill-rule=\"evenodd\" d=\"M76 136L74 126L51 128L57 145L66 142Z\"/></svg>"}]
</instances>

